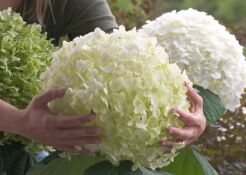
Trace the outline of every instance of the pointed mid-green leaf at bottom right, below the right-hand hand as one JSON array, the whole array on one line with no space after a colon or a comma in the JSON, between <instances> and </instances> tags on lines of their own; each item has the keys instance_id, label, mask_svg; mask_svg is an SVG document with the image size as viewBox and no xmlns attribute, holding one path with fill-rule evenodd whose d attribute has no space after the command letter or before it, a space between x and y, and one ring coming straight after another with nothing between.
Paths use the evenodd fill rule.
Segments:
<instances>
[{"instance_id":1,"label":"pointed mid-green leaf at bottom right, below the right-hand hand","mask_svg":"<svg viewBox=\"0 0 246 175\"><path fill-rule=\"evenodd\" d=\"M184 148L174 162L162 171L175 175L218 175L209 162L190 146Z\"/></svg>"}]
</instances>

